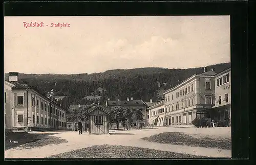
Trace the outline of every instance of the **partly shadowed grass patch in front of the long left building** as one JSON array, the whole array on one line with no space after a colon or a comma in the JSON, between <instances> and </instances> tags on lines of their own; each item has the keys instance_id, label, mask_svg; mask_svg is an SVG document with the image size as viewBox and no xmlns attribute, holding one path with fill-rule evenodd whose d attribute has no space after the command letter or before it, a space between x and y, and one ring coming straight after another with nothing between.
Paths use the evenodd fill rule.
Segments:
<instances>
[{"instance_id":1,"label":"partly shadowed grass patch in front of the long left building","mask_svg":"<svg viewBox=\"0 0 256 165\"><path fill-rule=\"evenodd\" d=\"M5 150L19 147L23 148L41 147L49 144L59 144L68 142L65 139L54 137L58 133L5 133ZM16 143L15 143L16 142Z\"/></svg>"}]
</instances>

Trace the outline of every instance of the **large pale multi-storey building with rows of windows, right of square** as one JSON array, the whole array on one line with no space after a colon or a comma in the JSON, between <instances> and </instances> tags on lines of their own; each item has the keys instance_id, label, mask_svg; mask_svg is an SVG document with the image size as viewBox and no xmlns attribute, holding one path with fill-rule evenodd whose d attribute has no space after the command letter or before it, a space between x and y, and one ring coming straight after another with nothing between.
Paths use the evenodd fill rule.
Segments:
<instances>
[{"instance_id":1,"label":"large pale multi-storey building with rows of windows, right of square","mask_svg":"<svg viewBox=\"0 0 256 165\"><path fill-rule=\"evenodd\" d=\"M188 125L197 113L211 108L215 104L215 75L214 69L195 74L177 86L163 92L165 105L164 125Z\"/></svg>"}]
</instances>

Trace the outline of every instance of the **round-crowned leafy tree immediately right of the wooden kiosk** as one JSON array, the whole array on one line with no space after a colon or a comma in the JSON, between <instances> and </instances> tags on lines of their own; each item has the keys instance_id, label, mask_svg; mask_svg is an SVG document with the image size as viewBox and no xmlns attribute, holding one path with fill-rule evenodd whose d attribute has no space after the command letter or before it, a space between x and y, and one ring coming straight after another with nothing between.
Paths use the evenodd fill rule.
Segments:
<instances>
[{"instance_id":1,"label":"round-crowned leafy tree immediately right of the wooden kiosk","mask_svg":"<svg viewBox=\"0 0 256 165\"><path fill-rule=\"evenodd\" d=\"M110 122L116 123L117 129L119 129L119 123L121 121L123 121L123 119L124 119L124 112L125 112L125 110L121 106L114 106L114 107L111 108L111 111L110 111L111 120L110 120Z\"/></svg>"}]
</instances>

